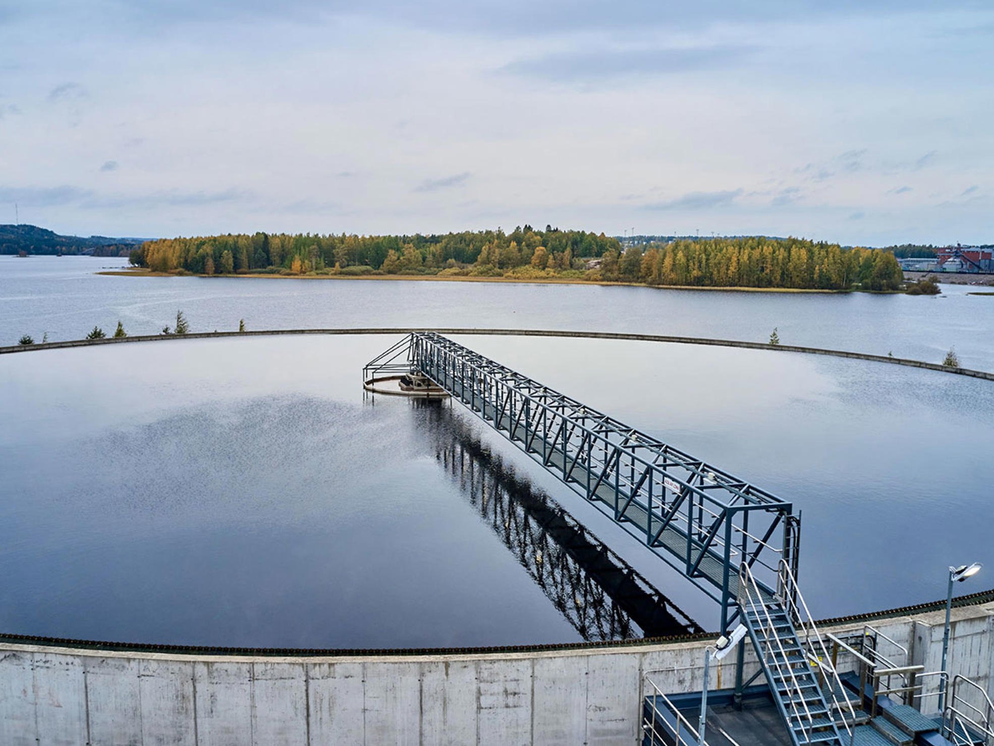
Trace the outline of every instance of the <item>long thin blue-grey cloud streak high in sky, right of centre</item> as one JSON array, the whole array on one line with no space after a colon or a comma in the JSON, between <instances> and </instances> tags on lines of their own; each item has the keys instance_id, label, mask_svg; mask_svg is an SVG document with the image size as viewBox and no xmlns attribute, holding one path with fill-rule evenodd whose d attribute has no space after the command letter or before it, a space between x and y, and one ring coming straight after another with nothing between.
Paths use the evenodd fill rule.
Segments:
<instances>
[{"instance_id":1,"label":"long thin blue-grey cloud streak high in sky, right of centre","mask_svg":"<svg viewBox=\"0 0 994 746\"><path fill-rule=\"evenodd\" d=\"M518 60L500 72L558 83L661 76L714 70L740 63L753 48L743 46L688 49L578 50Z\"/></svg>"}]
</instances>

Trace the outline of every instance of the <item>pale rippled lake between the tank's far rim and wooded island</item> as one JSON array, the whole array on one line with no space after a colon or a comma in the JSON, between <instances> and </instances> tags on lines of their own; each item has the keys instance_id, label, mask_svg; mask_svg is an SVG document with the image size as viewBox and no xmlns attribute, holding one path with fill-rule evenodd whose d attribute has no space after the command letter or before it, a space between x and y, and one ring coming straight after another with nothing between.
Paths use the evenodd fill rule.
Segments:
<instances>
[{"instance_id":1,"label":"pale rippled lake between the tank's far rim and wooded island","mask_svg":"<svg viewBox=\"0 0 994 746\"><path fill-rule=\"evenodd\" d=\"M994 371L994 296L943 285L938 297L737 292L577 284L96 276L126 260L0 257L0 344L22 334L80 339L118 319L156 334L182 309L193 331L355 326L586 329L764 342Z\"/></svg>"}]
</instances>

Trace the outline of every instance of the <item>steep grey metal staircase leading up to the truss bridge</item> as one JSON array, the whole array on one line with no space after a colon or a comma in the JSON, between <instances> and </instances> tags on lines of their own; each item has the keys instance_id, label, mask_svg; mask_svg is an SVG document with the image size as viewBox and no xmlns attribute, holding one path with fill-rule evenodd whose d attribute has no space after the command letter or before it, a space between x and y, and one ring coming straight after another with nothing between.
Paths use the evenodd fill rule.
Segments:
<instances>
[{"instance_id":1,"label":"steep grey metal staircase leading up to the truss bridge","mask_svg":"<svg viewBox=\"0 0 994 746\"><path fill-rule=\"evenodd\" d=\"M739 608L773 701L795 746L850 746L852 702L785 563L779 578L770 594L744 564L739 582Z\"/></svg>"}]
</instances>

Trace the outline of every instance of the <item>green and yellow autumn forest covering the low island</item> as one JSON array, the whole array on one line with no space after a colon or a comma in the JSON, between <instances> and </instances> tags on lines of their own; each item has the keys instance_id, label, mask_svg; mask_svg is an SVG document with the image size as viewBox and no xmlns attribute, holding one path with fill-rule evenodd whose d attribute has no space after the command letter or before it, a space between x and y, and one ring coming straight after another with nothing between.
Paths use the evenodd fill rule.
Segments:
<instances>
[{"instance_id":1,"label":"green and yellow autumn forest covering the low island","mask_svg":"<svg viewBox=\"0 0 994 746\"><path fill-rule=\"evenodd\" d=\"M762 237L677 239L623 248L615 238L531 226L444 236L227 235L150 241L131 262L201 275L438 275L652 285L894 290L894 253Z\"/></svg>"}]
</instances>

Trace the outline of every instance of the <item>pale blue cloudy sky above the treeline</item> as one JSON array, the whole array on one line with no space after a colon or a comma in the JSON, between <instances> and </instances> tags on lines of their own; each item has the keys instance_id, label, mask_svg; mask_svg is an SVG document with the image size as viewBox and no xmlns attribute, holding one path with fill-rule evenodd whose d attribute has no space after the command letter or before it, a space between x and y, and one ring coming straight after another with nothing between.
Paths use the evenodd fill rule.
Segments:
<instances>
[{"instance_id":1,"label":"pale blue cloudy sky above the treeline","mask_svg":"<svg viewBox=\"0 0 994 746\"><path fill-rule=\"evenodd\" d=\"M0 0L0 223L994 242L990 0Z\"/></svg>"}]
</instances>

